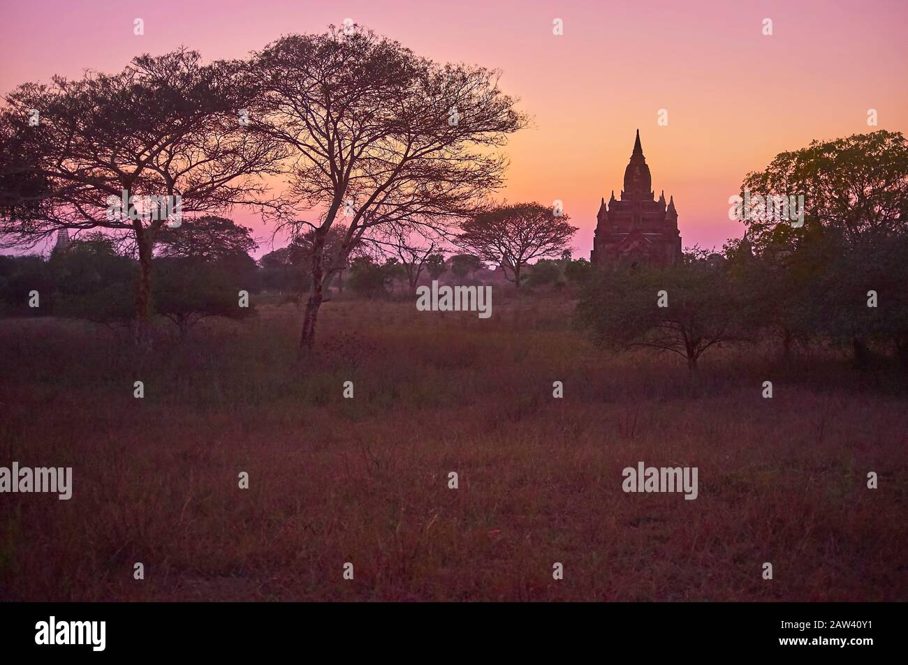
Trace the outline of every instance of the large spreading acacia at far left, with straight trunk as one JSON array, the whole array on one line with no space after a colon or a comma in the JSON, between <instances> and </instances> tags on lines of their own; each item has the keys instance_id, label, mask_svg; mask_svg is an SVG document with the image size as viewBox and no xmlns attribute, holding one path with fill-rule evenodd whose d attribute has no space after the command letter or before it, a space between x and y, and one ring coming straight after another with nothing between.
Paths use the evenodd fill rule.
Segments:
<instances>
[{"instance_id":1,"label":"large spreading acacia at far left, with straight trunk","mask_svg":"<svg viewBox=\"0 0 908 665\"><path fill-rule=\"evenodd\" d=\"M20 154L29 156L18 170L44 186L37 210L4 218L0 230L24 246L60 229L131 237L139 258L136 340L143 346L153 245L164 224L255 200L264 186L252 175L277 172L284 155L278 142L246 131L243 111L252 103L241 74L239 64L202 65L198 53L180 49L136 57L120 73L25 83L6 97L5 117L24 145ZM163 197L174 204L169 217L148 204Z\"/></svg>"}]
</instances>

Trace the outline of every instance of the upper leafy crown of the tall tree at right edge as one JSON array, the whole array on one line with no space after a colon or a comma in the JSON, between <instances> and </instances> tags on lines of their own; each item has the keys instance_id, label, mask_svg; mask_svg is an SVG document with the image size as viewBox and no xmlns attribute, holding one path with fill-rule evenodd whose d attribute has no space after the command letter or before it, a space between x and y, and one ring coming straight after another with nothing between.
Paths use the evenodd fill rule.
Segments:
<instances>
[{"instance_id":1,"label":"upper leafy crown of the tall tree at right edge","mask_svg":"<svg viewBox=\"0 0 908 665\"><path fill-rule=\"evenodd\" d=\"M901 132L854 134L781 152L765 171L748 173L742 195L804 196L804 225L767 214L759 201L739 214L757 253L770 245L795 247L820 226L854 244L868 236L908 230L908 142ZM739 212L743 212L739 210Z\"/></svg>"}]
</instances>

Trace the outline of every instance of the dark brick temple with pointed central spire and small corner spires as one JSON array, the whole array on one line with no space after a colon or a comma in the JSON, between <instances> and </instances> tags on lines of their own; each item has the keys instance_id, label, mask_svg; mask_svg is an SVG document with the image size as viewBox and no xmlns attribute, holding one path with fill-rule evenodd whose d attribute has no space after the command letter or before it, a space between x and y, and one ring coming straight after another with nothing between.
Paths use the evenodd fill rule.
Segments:
<instances>
[{"instance_id":1,"label":"dark brick temple with pointed central spire and small corner spires","mask_svg":"<svg viewBox=\"0 0 908 665\"><path fill-rule=\"evenodd\" d=\"M666 205L666 193L659 200L652 191L652 176L640 145L640 130L634 152L625 169L621 199L602 200L596 216L596 233L589 260L598 269L617 263L669 266L681 261L681 234L678 213L672 197Z\"/></svg>"}]
</instances>

